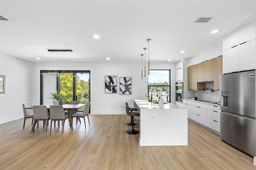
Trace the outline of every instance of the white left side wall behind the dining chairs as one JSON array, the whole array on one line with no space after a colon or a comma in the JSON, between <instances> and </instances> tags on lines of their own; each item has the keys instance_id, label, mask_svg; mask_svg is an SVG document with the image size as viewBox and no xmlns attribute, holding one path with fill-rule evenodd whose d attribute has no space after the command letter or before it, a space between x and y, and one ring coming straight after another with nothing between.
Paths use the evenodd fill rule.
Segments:
<instances>
[{"instance_id":1,"label":"white left side wall behind the dining chairs","mask_svg":"<svg viewBox=\"0 0 256 170\"><path fill-rule=\"evenodd\" d=\"M33 63L0 53L0 75L6 75L6 93L0 94L0 124L24 117L22 103L33 102L32 73Z\"/></svg>"}]
</instances>

